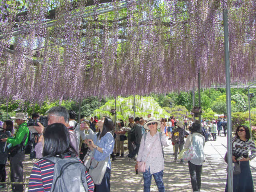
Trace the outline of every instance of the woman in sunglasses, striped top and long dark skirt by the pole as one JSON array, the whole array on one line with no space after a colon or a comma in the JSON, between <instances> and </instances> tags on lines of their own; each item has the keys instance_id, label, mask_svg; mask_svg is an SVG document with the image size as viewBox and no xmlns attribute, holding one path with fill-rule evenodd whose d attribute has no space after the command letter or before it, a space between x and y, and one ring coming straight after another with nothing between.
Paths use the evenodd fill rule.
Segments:
<instances>
[{"instance_id":1,"label":"woman in sunglasses, striped top and long dark skirt by the pole","mask_svg":"<svg viewBox=\"0 0 256 192\"><path fill-rule=\"evenodd\" d=\"M232 160L240 164L241 173L233 174L233 192L252 192L254 190L249 161L255 158L256 147L250 138L250 130L247 126L240 125L236 128L236 134L232 138ZM249 150L251 151L250 155ZM225 192L227 191L228 185L226 184Z\"/></svg>"}]
</instances>

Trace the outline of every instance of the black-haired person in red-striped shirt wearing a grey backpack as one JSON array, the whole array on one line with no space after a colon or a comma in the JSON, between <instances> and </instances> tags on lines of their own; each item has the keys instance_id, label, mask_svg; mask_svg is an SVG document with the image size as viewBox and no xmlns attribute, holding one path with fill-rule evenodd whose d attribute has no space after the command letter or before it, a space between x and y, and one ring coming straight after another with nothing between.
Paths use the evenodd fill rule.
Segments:
<instances>
[{"instance_id":1,"label":"black-haired person in red-striped shirt wearing a grey backpack","mask_svg":"<svg viewBox=\"0 0 256 192\"><path fill-rule=\"evenodd\" d=\"M43 146L43 158L34 164L30 174L29 192L94 191L92 178L70 145L68 129L64 124L54 123L46 128Z\"/></svg>"}]
</instances>

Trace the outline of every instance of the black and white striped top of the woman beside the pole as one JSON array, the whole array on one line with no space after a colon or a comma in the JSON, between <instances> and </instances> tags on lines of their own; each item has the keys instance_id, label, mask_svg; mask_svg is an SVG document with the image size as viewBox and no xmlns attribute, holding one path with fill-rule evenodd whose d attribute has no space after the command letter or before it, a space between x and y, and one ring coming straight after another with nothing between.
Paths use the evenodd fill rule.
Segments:
<instances>
[{"instance_id":1,"label":"black and white striped top of the woman beside the pole","mask_svg":"<svg viewBox=\"0 0 256 192\"><path fill-rule=\"evenodd\" d=\"M256 156L256 147L254 141L248 139L246 141L241 140L239 137L234 136L232 138L232 153L234 156L244 156L244 158L249 157L252 160ZM249 155L249 151L251 154Z\"/></svg>"}]
</instances>

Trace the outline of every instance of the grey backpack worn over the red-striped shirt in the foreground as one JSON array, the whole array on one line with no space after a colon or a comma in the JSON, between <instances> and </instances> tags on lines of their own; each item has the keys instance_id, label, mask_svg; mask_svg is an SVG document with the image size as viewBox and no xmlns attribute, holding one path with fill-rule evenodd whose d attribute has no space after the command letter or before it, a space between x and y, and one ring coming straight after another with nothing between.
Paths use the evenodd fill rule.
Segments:
<instances>
[{"instance_id":1,"label":"grey backpack worn over the red-striped shirt in the foreground","mask_svg":"<svg viewBox=\"0 0 256 192\"><path fill-rule=\"evenodd\" d=\"M54 163L51 192L88 192L86 166L76 157L43 157Z\"/></svg>"}]
</instances>

